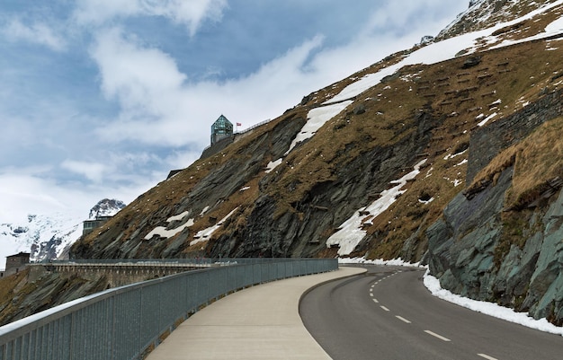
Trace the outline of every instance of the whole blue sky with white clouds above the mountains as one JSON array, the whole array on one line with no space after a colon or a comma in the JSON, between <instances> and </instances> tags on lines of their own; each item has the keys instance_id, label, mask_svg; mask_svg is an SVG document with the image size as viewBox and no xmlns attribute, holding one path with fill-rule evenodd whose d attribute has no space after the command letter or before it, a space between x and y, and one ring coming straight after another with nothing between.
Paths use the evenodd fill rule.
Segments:
<instances>
[{"instance_id":1,"label":"whole blue sky with white clouds above the mountains","mask_svg":"<svg viewBox=\"0 0 563 360\"><path fill-rule=\"evenodd\" d=\"M130 202L220 114L250 127L435 35L451 0L3 0L0 223Z\"/></svg>"}]
</instances>

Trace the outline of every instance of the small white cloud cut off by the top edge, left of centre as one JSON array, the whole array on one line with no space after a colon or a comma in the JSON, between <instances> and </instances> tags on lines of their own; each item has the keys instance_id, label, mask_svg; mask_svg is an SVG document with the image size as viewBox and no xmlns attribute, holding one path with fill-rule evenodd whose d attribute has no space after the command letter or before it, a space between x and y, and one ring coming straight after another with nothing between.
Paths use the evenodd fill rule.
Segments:
<instances>
[{"instance_id":1,"label":"small white cloud cut off by the top edge, left of centre","mask_svg":"<svg viewBox=\"0 0 563 360\"><path fill-rule=\"evenodd\" d=\"M120 17L163 16L194 35L201 22L219 21L226 6L227 0L80 0L75 17L81 23L102 24Z\"/></svg>"}]
</instances>

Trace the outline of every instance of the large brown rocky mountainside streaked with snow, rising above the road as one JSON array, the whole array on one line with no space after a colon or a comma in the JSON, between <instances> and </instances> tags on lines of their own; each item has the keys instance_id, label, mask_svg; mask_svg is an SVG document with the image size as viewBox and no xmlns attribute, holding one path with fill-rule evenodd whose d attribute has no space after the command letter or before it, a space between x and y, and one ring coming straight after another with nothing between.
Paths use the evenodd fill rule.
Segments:
<instances>
[{"instance_id":1,"label":"large brown rocky mountainside streaked with snow, rising above the road","mask_svg":"<svg viewBox=\"0 0 563 360\"><path fill-rule=\"evenodd\" d=\"M560 325L562 13L471 1L435 40L210 148L71 256L423 260Z\"/></svg>"}]
</instances>

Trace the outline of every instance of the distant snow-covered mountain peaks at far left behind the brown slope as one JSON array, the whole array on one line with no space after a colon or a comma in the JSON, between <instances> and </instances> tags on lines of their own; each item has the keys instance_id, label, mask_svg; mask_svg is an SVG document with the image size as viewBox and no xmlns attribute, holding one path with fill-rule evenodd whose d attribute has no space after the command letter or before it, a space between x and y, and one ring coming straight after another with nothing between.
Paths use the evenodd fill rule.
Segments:
<instances>
[{"instance_id":1,"label":"distant snow-covered mountain peaks at far left behind the brown slope","mask_svg":"<svg viewBox=\"0 0 563 360\"><path fill-rule=\"evenodd\" d=\"M105 198L90 210L89 218L112 216L125 204ZM28 215L21 224L0 224L0 241L5 256L29 252L31 261L58 259L82 235L85 216L62 213ZM3 259L3 258L0 258Z\"/></svg>"}]
</instances>

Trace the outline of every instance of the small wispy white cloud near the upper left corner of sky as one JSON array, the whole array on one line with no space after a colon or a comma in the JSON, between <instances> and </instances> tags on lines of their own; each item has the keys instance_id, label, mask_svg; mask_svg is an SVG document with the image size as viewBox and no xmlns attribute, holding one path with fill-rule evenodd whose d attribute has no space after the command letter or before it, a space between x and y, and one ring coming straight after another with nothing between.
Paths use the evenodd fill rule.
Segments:
<instances>
[{"instance_id":1,"label":"small wispy white cloud near the upper left corner of sky","mask_svg":"<svg viewBox=\"0 0 563 360\"><path fill-rule=\"evenodd\" d=\"M43 22L24 24L20 19L13 19L5 24L2 34L10 41L27 41L46 46L55 51L66 48L66 41L53 28Z\"/></svg>"}]
</instances>

